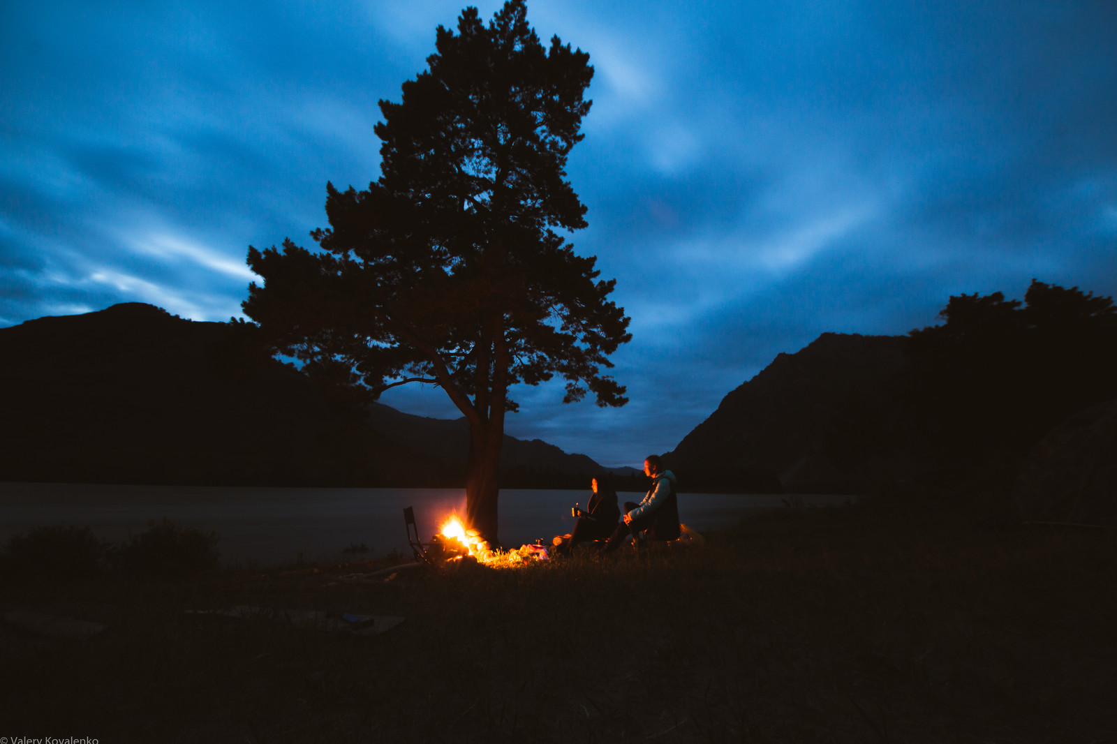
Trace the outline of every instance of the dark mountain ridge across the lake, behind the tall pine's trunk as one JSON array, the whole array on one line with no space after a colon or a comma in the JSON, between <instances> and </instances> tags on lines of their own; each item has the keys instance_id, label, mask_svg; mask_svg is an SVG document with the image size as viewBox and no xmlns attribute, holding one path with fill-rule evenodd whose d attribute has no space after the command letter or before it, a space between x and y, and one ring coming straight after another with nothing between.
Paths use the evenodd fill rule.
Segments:
<instances>
[{"instance_id":1,"label":"dark mountain ridge across the lake, behind the tall pine's trunk","mask_svg":"<svg viewBox=\"0 0 1117 744\"><path fill-rule=\"evenodd\" d=\"M332 401L256 343L141 303L0 328L0 480L461 486L467 426ZM584 487L583 455L507 437L504 487Z\"/></svg>"}]
</instances>

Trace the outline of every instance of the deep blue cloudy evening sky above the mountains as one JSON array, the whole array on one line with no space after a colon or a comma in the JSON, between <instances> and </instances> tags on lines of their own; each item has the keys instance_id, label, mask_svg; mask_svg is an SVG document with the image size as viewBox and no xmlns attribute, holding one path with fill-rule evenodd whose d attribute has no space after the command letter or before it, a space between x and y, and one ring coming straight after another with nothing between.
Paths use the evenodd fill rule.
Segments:
<instances>
[{"instance_id":1,"label":"deep blue cloudy evening sky above the mountains","mask_svg":"<svg viewBox=\"0 0 1117 744\"><path fill-rule=\"evenodd\" d=\"M249 244L313 245L326 181L379 177L376 102L461 7L2 3L0 325L239 316ZM822 332L906 333L1032 277L1117 294L1113 0L535 0L528 20L596 69L572 241L634 337L627 407L516 390L514 436L638 465ZM458 416L439 390L383 402Z\"/></svg>"}]
</instances>

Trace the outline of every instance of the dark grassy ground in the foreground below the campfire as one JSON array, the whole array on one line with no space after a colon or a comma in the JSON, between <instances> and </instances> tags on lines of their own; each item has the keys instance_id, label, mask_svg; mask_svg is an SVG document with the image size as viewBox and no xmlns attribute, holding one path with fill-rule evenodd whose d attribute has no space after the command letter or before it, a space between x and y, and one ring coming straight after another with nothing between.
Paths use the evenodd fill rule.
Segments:
<instances>
[{"instance_id":1,"label":"dark grassy ground in the foreground below the campfire","mask_svg":"<svg viewBox=\"0 0 1117 744\"><path fill-rule=\"evenodd\" d=\"M872 502L519 570L9 582L0 736L116 742L1115 742L1117 531ZM187 613L407 620L351 637Z\"/></svg>"}]
</instances>

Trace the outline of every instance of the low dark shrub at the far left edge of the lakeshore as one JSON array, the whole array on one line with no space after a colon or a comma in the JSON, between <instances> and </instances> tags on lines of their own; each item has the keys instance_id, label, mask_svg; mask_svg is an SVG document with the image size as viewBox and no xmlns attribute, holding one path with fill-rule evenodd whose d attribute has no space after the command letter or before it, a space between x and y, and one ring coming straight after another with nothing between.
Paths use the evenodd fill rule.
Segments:
<instances>
[{"instance_id":1,"label":"low dark shrub at the far left edge of the lakeshore","mask_svg":"<svg viewBox=\"0 0 1117 744\"><path fill-rule=\"evenodd\" d=\"M0 553L0 566L12 578L85 579L97 571L105 544L89 527L54 525L12 535Z\"/></svg>"}]
</instances>

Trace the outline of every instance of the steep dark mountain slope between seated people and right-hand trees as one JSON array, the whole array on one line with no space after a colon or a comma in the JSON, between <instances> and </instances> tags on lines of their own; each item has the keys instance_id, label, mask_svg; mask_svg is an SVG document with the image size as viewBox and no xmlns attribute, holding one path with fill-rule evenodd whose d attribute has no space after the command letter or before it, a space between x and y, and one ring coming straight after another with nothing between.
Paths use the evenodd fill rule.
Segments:
<instances>
[{"instance_id":1,"label":"steep dark mountain slope between seated people and right-hand trees","mask_svg":"<svg viewBox=\"0 0 1117 744\"><path fill-rule=\"evenodd\" d=\"M687 490L850 493L823 440L851 400L873 401L904 364L904 336L824 333L729 392L667 465Z\"/></svg>"}]
</instances>

